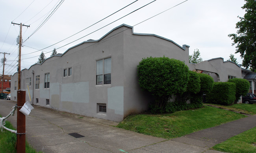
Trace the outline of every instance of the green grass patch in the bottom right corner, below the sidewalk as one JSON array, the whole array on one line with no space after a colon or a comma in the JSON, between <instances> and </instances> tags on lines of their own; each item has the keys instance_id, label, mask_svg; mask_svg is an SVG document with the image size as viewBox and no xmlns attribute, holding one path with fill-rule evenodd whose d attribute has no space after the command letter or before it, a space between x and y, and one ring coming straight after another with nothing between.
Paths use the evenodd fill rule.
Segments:
<instances>
[{"instance_id":1,"label":"green grass patch in the bottom right corner, below the sidewalk","mask_svg":"<svg viewBox=\"0 0 256 153\"><path fill-rule=\"evenodd\" d=\"M256 127L217 144L213 149L228 153L256 153Z\"/></svg>"}]
</instances>

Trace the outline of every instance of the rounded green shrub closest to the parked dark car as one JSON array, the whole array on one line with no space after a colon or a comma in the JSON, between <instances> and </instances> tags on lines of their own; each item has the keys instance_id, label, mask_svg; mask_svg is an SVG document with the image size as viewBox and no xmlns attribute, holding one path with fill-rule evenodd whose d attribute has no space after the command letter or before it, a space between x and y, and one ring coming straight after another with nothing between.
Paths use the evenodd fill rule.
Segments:
<instances>
[{"instance_id":1,"label":"rounded green shrub closest to the parked dark car","mask_svg":"<svg viewBox=\"0 0 256 153\"><path fill-rule=\"evenodd\" d=\"M246 79L234 78L228 79L228 82L236 84L236 100L235 103L240 99L240 96L245 96L250 88L250 83Z\"/></svg>"}]
</instances>

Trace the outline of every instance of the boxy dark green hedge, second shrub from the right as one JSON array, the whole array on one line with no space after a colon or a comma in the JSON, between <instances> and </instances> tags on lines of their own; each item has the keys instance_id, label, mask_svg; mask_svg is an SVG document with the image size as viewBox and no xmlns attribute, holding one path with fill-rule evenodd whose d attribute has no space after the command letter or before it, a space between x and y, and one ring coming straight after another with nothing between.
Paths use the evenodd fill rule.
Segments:
<instances>
[{"instance_id":1,"label":"boxy dark green hedge, second shrub from the right","mask_svg":"<svg viewBox=\"0 0 256 153\"><path fill-rule=\"evenodd\" d=\"M236 84L232 82L215 82L211 93L207 94L207 103L231 105L236 100Z\"/></svg>"}]
</instances>

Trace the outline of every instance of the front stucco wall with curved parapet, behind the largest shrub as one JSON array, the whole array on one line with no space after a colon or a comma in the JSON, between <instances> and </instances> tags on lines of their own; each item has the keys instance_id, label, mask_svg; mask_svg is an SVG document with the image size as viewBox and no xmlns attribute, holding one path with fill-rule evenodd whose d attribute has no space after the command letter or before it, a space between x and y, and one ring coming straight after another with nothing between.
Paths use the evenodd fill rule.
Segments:
<instances>
[{"instance_id":1,"label":"front stucco wall with curved parapet, behind the largest shrub","mask_svg":"<svg viewBox=\"0 0 256 153\"><path fill-rule=\"evenodd\" d=\"M184 50L185 49L185 50ZM138 84L137 65L146 57L169 57L188 63L189 47L178 46L172 41L154 35L124 32L124 116L148 109L152 96L143 92Z\"/></svg>"}]
</instances>

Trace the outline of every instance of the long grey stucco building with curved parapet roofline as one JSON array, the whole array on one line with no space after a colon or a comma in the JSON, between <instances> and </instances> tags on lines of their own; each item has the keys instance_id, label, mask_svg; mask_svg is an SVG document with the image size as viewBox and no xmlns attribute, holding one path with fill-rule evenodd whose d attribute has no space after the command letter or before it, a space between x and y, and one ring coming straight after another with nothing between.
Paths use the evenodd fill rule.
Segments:
<instances>
[{"instance_id":1,"label":"long grey stucco building with curved parapet roofline","mask_svg":"<svg viewBox=\"0 0 256 153\"><path fill-rule=\"evenodd\" d=\"M29 91L26 101L34 105L120 122L128 114L148 109L152 98L139 88L137 65L150 56L184 61L190 70L208 68L189 64L189 46L154 34L134 33L133 27L122 24L99 40L82 42L22 70L21 89ZM230 66L230 72L211 66L207 72L223 73L218 74L221 81L228 79L228 73L241 77L241 67L234 63L226 67ZM233 73L237 70L240 74ZM17 78L17 73L11 77L11 100L17 100Z\"/></svg>"}]
</instances>

